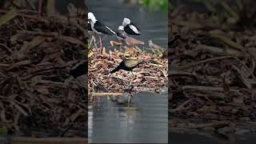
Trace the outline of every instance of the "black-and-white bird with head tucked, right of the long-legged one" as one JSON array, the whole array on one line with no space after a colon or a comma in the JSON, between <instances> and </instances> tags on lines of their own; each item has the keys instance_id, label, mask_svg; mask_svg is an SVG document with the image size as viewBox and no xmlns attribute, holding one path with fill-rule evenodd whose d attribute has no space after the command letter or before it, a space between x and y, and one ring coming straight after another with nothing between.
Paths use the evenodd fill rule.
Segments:
<instances>
[{"instance_id":1,"label":"black-and-white bird with head tucked, right of the long-legged one","mask_svg":"<svg viewBox=\"0 0 256 144\"><path fill-rule=\"evenodd\" d=\"M122 26L124 27L126 34L141 35L141 32L140 30L138 30L138 27L134 26L134 24L130 22L130 18L123 18Z\"/></svg>"}]
</instances>

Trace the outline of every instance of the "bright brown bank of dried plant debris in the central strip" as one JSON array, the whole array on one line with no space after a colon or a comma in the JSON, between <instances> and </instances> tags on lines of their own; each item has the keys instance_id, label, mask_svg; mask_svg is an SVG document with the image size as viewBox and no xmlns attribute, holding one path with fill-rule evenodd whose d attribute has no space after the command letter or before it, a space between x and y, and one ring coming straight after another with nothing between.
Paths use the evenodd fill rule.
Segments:
<instances>
[{"instance_id":1,"label":"bright brown bank of dried plant debris in the central strip","mask_svg":"<svg viewBox=\"0 0 256 144\"><path fill-rule=\"evenodd\" d=\"M150 90L161 92L167 86L167 58L159 58L140 49L126 48L98 54L93 48L89 58L89 90L93 93L129 93L129 85L134 86L133 93ZM118 70L110 74L126 57L142 59L142 63L133 72ZM113 95L113 94L111 94Z\"/></svg>"}]
</instances>

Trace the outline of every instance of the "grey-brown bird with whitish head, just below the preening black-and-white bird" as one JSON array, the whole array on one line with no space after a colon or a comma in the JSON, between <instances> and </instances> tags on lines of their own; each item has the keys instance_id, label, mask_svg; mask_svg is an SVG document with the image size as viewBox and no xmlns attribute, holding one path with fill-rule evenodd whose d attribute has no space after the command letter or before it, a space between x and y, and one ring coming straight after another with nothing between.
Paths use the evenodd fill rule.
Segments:
<instances>
[{"instance_id":1,"label":"grey-brown bird with whitish head, just below the preening black-and-white bird","mask_svg":"<svg viewBox=\"0 0 256 144\"><path fill-rule=\"evenodd\" d=\"M144 45L144 42L129 37L126 32L124 31L124 27L123 26L118 26L118 32L117 32L117 38L118 40L122 41L122 42L126 42L127 46L137 46L137 45Z\"/></svg>"}]
</instances>

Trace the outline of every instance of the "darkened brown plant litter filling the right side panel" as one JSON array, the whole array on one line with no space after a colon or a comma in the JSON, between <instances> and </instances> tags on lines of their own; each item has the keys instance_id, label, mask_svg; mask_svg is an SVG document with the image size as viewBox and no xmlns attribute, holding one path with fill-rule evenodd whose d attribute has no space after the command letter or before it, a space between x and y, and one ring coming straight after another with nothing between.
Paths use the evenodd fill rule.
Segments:
<instances>
[{"instance_id":1,"label":"darkened brown plant litter filling the right side panel","mask_svg":"<svg viewBox=\"0 0 256 144\"><path fill-rule=\"evenodd\" d=\"M232 10L222 6L227 13ZM250 14L238 10L220 16L218 11L207 14L172 6L170 39L178 38L169 42L168 52L170 131L255 133L256 29L249 16L256 13L252 9Z\"/></svg>"}]
</instances>

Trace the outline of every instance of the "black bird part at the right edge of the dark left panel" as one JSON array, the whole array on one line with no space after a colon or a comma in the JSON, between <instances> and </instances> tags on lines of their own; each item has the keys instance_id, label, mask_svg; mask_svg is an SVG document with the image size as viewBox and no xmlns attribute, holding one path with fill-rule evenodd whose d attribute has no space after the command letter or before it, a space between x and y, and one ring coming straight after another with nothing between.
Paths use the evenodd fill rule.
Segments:
<instances>
[{"instance_id":1,"label":"black bird part at the right edge of the dark left panel","mask_svg":"<svg viewBox=\"0 0 256 144\"><path fill-rule=\"evenodd\" d=\"M70 75L74 78L78 78L81 75L88 73L88 62L78 62L75 66L73 66L70 70Z\"/></svg>"}]
</instances>

